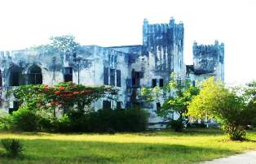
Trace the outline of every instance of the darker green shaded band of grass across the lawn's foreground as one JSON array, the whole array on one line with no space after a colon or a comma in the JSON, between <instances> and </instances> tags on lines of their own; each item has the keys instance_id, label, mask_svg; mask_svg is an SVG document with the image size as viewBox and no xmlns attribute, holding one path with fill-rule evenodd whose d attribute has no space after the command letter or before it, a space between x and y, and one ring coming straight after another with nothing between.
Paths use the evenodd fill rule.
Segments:
<instances>
[{"instance_id":1,"label":"darker green shaded band of grass across the lawn's foreground","mask_svg":"<svg viewBox=\"0 0 256 164\"><path fill-rule=\"evenodd\" d=\"M192 163L236 153L188 145L73 140L22 140L24 158L0 163Z\"/></svg>"}]
</instances>

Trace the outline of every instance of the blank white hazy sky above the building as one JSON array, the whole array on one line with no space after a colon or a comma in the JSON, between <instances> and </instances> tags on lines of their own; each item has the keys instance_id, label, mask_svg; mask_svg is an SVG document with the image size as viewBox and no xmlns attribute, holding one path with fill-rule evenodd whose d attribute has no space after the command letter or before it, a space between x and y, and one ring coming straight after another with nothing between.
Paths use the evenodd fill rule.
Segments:
<instances>
[{"instance_id":1,"label":"blank white hazy sky above the building","mask_svg":"<svg viewBox=\"0 0 256 164\"><path fill-rule=\"evenodd\" d=\"M0 50L73 34L82 45L142 44L143 19L183 21L185 63L192 43L225 44L225 80L256 80L255 0L0 0Z\"/></svg>"}]
</instances>

